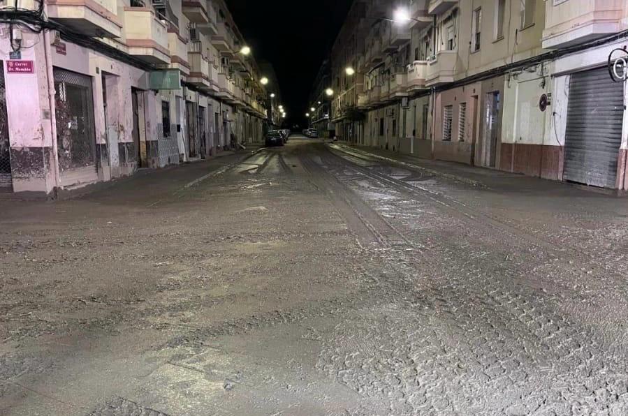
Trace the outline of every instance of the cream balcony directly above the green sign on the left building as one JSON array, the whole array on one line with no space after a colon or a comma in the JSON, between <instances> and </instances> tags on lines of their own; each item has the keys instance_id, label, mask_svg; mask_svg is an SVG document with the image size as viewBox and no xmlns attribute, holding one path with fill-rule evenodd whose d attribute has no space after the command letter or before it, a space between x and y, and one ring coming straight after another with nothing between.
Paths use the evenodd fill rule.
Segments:
<instances>
[{"instance_id":1,"label":"cream balcony directly above the green sign on the left building","mask_svg":"<svg viewBox=\"0 0 628 416\"><path fill-rule=\"evenodd\" d=\"M125 7L124 35L129 54L150 64L170 64L168 28L152 8Z\"/></svg>"}]
</instances>

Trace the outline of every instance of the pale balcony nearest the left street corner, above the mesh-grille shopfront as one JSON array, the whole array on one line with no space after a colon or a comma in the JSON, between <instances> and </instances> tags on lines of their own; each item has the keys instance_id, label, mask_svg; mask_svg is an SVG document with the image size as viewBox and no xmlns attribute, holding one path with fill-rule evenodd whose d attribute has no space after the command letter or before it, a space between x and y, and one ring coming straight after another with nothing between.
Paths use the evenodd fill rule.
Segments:
<instances>
[{"instance_id":1,"label":"pale balcony nearest the left street corner, above the mesh-grille shopfront","mask_svg":"<svg viewBox=\"0 0 628 416\"><path fill-rule=\"evenodd\" d=\"M24 7L24 5L20 5ZM119 38L122 22L116 0L50 0L48 16L87 36Z\"/></svg>"}]
</instances>

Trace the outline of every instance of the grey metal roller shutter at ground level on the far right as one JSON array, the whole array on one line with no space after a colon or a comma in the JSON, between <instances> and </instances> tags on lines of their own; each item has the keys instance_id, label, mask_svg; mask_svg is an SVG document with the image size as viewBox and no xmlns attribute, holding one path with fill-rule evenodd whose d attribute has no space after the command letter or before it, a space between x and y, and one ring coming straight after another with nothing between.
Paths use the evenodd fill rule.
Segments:
<instances>
[{"instance_id":1,"label":"grey metal roller shutter at ground level on the far right","mask_svg":"<svg viewBox=\"0 0 628 416\"><path fill-rule=\"evenodd\" d=\"M624 90L606 68L571 75L563 179L615 188Z\"/></svg>"}]
</instances>

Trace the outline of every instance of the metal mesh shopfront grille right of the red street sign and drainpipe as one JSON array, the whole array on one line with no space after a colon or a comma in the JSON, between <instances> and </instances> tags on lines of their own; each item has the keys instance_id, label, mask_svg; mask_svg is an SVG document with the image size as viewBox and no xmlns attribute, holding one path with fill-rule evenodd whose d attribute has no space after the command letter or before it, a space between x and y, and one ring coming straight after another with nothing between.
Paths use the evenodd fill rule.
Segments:
<instances>
[{"instance_id":1,"label":"metal mesh shopfront grille right of the red street sign and drainpipe","mask_svg":"<svg viewBox=\"0 0 628 416\"><path fill-rule=\"evenodd\" d=\"M54 91L61 185L95 181L98 175L92 77L54 68Z\"/></svg>"}]
</instances>

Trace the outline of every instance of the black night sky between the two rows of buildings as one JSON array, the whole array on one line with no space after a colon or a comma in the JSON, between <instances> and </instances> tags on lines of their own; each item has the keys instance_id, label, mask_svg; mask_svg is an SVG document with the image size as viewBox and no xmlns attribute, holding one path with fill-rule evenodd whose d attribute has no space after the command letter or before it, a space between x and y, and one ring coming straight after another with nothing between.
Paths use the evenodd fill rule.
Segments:
<instances>
[{"instance_id":1,"label":"black night sky between the two rows of buildings","mask_svg":"<svg viewBox=\"0 0 628 416\"><path fill-rule=\"evenodd\" d=\"M275 67L291 124L305 123L314 78L352 2L226 0L254 56Z\"/></svg>"}]
</instances>

